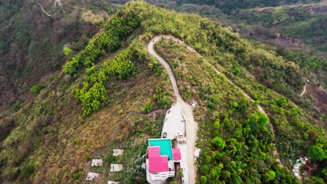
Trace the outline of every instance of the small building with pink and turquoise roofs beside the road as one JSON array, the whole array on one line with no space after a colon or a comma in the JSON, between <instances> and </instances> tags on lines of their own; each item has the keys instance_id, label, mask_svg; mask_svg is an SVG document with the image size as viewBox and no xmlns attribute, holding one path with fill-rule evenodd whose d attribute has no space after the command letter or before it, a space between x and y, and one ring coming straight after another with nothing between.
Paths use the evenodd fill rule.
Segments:
<instances>
[{"instance_id":1,"label":"small building with pink and turquoise roofs beside the road","mask_svg":"<svg viewBox=\"0 0 327 184\"><path fill-rule=\"evenodd\" d=\"M172 148L170 139L150 139L147 155L146 170L149 183L175 176L175 162L182 159L180 148Z\"/></svg>"}]
</instances>

